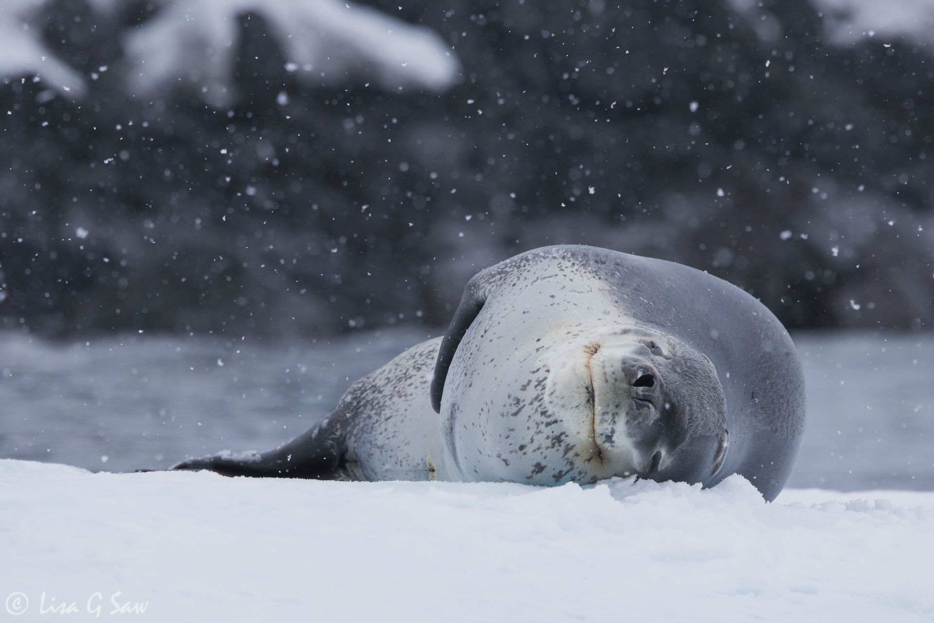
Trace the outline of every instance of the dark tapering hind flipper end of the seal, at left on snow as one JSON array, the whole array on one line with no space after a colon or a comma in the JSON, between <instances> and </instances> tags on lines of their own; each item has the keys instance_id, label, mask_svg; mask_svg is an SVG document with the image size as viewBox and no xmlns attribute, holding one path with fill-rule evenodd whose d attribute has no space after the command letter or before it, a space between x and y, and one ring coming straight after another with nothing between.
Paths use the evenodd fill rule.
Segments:
<instances>
[{"instance_id":1,"label":"dark tapering hind flipper end of the seal, at left on snow","mask_svg":"<svg viewBox=\"0 0 934 623\"><path fill-rule=\"evenodd\" d=\"M266 452L220 452L183 460L173 470L209 470L226 476L273 478L339 477L344 462L344 433L337 418L323 419L290 442Z\"/></svg>"}]
</instances>

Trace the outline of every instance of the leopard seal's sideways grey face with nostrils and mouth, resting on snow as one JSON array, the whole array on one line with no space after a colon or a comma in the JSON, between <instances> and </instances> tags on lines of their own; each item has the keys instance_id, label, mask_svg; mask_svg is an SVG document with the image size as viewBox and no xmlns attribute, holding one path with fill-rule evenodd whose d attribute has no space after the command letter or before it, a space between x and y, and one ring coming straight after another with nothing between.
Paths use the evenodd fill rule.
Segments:
<instances>
[{"instance_id":1,"label":"leopard seal's sideways grey face with nostrils and mouth, resting on snow","mask_svg":"<svg viewBox=\"0 0 934 623\"><path fill-rule=\"evenodd\" d=\"M729 435L713 363L647 328L595 333L548 358L545 405L586 423L600 471L687 482L715 474Z\"/></svg>"}]
</instances>

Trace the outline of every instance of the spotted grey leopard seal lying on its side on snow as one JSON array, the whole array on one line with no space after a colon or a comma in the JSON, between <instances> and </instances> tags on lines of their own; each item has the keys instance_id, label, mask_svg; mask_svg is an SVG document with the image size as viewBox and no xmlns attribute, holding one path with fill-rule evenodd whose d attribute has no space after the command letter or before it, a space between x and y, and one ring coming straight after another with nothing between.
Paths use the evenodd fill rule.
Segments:
<instances>
[{"instance_id":1,"label":"spotted grey leopard seal lying on its side on snow","mask_svg":"<svg viewBox=\"0 0 934 623\"><path fill-rule=\"evenodd\" d=\"M742 474L771 501L804 419L795 347L751 295L678 263L556 246L478 273L443 338L354 383L308 432L175 469L704 487Z\"/></svg>"}]
</instances>

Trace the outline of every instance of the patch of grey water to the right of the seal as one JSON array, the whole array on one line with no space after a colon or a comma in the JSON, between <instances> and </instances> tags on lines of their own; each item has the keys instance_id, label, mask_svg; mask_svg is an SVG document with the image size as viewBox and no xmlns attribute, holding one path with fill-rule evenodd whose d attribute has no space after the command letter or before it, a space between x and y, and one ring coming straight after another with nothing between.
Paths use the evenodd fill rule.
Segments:
<instances>
[{"instance_id":1,"label":"patch of grey water to the right of the seal","mask_svg":"<svg viewBox=\"0 0 934 623\"><path fill-rule=\"evenodd\" d=\"M808 424L792 487L934 489L934 334L798 334Z\"/></svg>"}]
</instances>

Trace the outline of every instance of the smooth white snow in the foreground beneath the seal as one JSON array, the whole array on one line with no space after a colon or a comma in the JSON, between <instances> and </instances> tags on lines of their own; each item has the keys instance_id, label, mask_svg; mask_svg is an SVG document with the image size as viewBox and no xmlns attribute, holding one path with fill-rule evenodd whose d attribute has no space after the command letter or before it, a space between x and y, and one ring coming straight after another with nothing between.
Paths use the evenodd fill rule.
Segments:
<instances>
[{"instance_id":1,"label":"smooth white snow in the foreground beneath the seal","mask_svg":"<svg viewBox=\"0 0 934 623\"><path fill-rule=\"evenodd\" d=\"M529 488L0 460L0 544L0 600L74 603L68 620L95 618L89 599L106 618L117 592L150 621L934 616L934 492L768 504L738 476Z\"/></svg>"}]
</instances>

